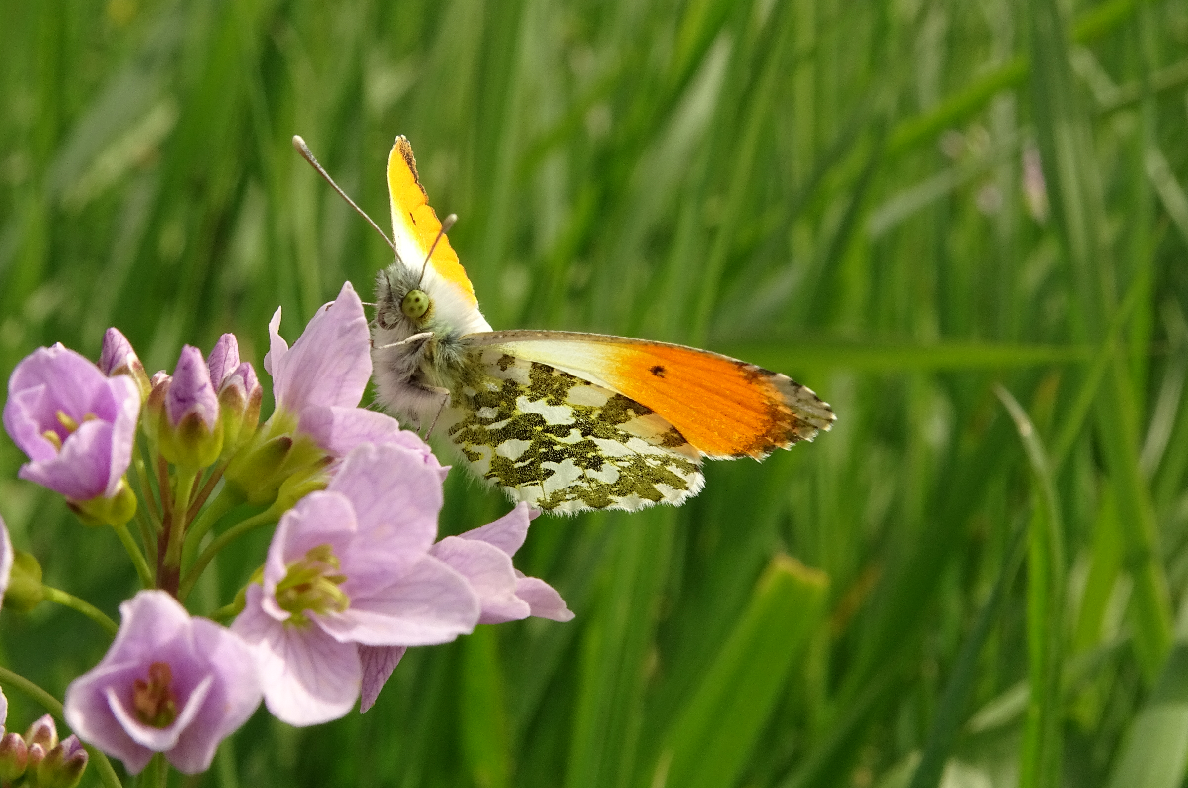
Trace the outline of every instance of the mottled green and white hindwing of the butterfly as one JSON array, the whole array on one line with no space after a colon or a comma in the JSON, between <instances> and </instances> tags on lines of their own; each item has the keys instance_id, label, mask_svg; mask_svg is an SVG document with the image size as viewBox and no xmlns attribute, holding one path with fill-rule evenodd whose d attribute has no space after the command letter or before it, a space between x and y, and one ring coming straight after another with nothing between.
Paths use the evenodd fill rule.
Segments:
<instances>
[{"instance_id":1,"label":"mottled green and white hindwing of the butterfly","mask_svg":"<svg viewBox=\"0 0 1188 788\"><path fill-rule=\"evenodd\" d=\"M472 351L442 426L470 470L546 511L678 504L697 451L650 408L546 364Z\"/></svg>"}]
</instances>

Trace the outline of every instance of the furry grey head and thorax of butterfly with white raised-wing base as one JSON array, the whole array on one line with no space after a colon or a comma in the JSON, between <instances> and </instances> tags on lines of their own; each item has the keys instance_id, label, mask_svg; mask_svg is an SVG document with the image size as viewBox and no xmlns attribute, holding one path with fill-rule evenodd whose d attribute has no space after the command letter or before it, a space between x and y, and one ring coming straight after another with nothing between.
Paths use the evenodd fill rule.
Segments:
<instances>
[{"instance_id":1,"label":"furry grey head and thorax of butterfly with white raised-wing base","mask_svg":"<svg viewBox=\"0 0 1188 788\"><path fill-rule=\"evenodd\" d=\"M397 419L425 427L442 408L442 394L435 389L453 389L462 369L462 337L491 331L491 325L467 294L443 279L431 263L422 278L421 263L418 260L410 266L397 258L375 277L372 364L379 400ZM429 296L429 310L410 319L400 311L400 303L417 288ZM432 336L385 347L424 332Z\"/></svg>"}]
</instances>

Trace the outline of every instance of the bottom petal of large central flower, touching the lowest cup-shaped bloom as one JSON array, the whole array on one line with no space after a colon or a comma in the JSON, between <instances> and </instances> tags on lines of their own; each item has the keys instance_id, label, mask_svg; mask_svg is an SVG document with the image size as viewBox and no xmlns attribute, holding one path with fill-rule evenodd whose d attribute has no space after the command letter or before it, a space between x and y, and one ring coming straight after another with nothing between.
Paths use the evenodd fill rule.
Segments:
<instances>
[{"instance_id":1,"label":"bottom petal of large central flower, touching the lowest cup-shaped bloom","mask_svg":"<svg viewBox=\"0 0 1188 788\"><path fill-rule=\"evenodd\" d=\"M316 624L278 622L260 606L263 589L247 589L247 606L232 631L255 654L264 701L290 725L316 725L345 716L355 705L362 663L353 643L340 643Z\"/></svg>"}]
</instances>

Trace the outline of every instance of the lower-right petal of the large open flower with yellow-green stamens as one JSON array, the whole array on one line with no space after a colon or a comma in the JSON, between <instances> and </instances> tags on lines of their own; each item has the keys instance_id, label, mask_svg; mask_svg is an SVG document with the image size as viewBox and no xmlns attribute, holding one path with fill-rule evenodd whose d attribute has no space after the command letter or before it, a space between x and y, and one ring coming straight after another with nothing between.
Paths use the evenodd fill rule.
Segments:
<instances>
[{"instance_id":1,"label":"lower-right petal of the large open flower with yellow-green stamens","mask_svg":"<svg viewBox=\"0 0 1188 788\"><path fill-rule=\"evenodd\" d=\"M343 643L432 646L472 631L479 599L466 578L426 555L383 592L353 597L346 612L312 617Z\"/></svg>"}]
</instances>

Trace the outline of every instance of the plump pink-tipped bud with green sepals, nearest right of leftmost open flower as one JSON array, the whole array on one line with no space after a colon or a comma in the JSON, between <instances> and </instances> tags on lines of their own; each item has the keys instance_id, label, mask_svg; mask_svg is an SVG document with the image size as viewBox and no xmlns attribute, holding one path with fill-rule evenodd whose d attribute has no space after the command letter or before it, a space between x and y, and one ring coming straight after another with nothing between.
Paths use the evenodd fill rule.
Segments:
<instances>
[{"instance_id":1,"label":"plump pink-tipped bud with green sepals, nearest right of leftmost open flower","mask_svg":"<svg viewBox=\"0 0 1188 788\"><path fill-rule=\"evenodd\" d=\"M182 348L164 400L157 425L162 457L192 470L213 465L222 451L223 425L210 370L197 348Z\"/></svg>"}]
</instances>

